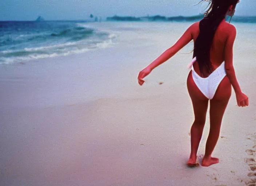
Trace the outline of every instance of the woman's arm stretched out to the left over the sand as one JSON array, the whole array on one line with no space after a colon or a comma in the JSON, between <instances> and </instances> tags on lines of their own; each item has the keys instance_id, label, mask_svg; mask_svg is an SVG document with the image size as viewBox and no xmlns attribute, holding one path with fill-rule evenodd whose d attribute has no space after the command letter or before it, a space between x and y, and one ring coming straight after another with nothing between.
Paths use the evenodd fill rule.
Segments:
<instances>
[{"instance_id":1,"label":"woman's arm stretched out to the left over the sand","mask_svg":"<svg viewBox=\"0 0 256 186\"><path fill-rule=\"evenodd\" d=\"M161 65L172 56L174 56L177 52L179 52L180 49L182 49L193 39L192 31L193 28L195 27L195 24L196 23L192 24L171 48L165 50L165 52L162 53L159 57L157 57L151 64L149 64L146 68L140 71L138 76L140 85L144 83L143 78L147 76L154 68Z\"/></svg>"}]
</instances>

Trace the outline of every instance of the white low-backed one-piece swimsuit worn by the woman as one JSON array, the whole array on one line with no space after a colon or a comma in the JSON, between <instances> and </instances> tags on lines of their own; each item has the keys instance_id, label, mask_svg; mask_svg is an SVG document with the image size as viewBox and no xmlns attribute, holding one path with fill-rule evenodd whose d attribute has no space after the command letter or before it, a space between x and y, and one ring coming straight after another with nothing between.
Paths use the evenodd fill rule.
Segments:
<instances>
[{"instance_id":1,"label":"white low-backed one-piece swimsuit worn by the woman","mask_svg":"<svg viewBox=\"0 0 256 186\"><path fill-rule=\"evenodd\" d=\"M204 94L208 99L212 99L220 82L226 76L225 62L216 68L207 78L200 77L193 68L193 63L196 61L196 57L193 58L192 63L188 66L192 68L192 77L199 88L199 90Z\"/></svg>"}]
</instances>

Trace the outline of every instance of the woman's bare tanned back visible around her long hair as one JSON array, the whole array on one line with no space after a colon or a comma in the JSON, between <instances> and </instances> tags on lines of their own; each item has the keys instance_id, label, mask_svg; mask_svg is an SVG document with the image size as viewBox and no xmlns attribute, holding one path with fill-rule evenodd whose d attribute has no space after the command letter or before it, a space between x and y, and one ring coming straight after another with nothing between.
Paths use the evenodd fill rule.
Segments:
<instances>
[{"instance_id":1,"label":"woman's bare tanned back visible around her long hair","mask_svg":"<svg viewBox=\"0 0 256 186\"><path fill-rule=\"evenodd\" d=\"M192 37L195 43L197 37L199 36L199 23L200 21L195 23L195 27L193 27ZM213 37L212 47L210 51L210 60L215 70L225 59L225 45L227 42L227 38L229 36L229 30L231 25L228 24L225 20L223 20L219 27L217 28L215 35ZM197 74L201 74L199 70L199 65L197 62L193 65ZM205 73L207 74L207 73ZM209 74L207 75L209 76ZM207 77L202 76L202 77Z\"/></svg>"}]
</instances>

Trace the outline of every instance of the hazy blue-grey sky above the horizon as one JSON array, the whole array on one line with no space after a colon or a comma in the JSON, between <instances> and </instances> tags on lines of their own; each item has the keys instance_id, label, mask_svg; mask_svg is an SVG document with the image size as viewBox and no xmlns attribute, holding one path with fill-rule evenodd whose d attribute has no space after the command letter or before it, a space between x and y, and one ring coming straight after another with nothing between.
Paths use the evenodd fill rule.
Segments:
<instances>
[{"instance_id":1,"label":"hazy blue-grey sky above the horizon","mask_svg":"<svg viewBox=\"0 0 256 186\"><path fill-rule=\"evenodd\" d=\"M118 16L193 16L204 12L200 0L0 0L0 21L88 20ZM196 5L196 6L195 6ZM240 0L235 15L256 16L255 0Z\"/></svg>"}]
</instances>

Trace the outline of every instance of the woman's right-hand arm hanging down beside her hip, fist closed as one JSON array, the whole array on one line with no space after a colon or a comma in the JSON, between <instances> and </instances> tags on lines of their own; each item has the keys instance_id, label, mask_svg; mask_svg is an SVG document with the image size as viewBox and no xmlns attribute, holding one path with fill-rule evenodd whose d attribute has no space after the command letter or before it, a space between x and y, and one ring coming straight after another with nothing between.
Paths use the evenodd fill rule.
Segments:
<instances>
[{"instance_id":1,"label":"woman's right-hand arm hanging down beside her hip, fist closed","mask_svg":"<svg viewBox=\"0 0 256 186\"><path fill-rule=\"evenodd\" d=\"M233 45L236 39L236 28L233 25L231 26L230 35L228 36L226 45L225 45L225 70L227 77L231 82L233 89L236 93L236 101L238 106L248 106L248 97L241 91L241 88L236 79L236 73L233 66Z\"/></svg>"}]
</instances>

